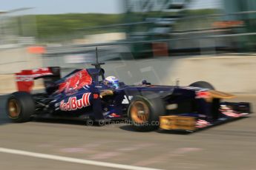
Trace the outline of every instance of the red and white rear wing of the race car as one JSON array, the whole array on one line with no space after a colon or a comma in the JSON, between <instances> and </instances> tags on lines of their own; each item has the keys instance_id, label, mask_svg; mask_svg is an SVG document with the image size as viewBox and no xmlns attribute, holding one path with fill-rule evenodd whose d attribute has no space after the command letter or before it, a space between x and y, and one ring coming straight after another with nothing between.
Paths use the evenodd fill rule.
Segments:
<instances>
[{"instance_id":1,"label":"red and white rear wing of the race car","mask_svg":"<svg viewBox=\"0 0 256 170\"><path fill-rule=\"evenodd\" d=\"M34 80L44 78L45 83L60 78L59 67L44 67L39 69L24 69L16 74L16 84L18 91L31 92Z\"/></svg>"}]
</instances>

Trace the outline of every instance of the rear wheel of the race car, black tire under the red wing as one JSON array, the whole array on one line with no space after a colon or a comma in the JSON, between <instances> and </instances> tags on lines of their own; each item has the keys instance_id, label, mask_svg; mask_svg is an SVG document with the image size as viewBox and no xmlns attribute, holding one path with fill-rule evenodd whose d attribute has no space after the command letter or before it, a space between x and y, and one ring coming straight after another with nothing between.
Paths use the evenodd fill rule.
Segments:
<instances>
[{"instance_id":1,"label":"rear wheel of the race car, black tire under the red wing","mask_svg":"<svg viewBox=\"0 0 256 170\"><path fill-rule=\"evenodd\" d=\"M35 102L27 92L13 92L7 100L7 116L14 123L22 123L30 120L35 112Z\"/></svg>"}]
</instances>

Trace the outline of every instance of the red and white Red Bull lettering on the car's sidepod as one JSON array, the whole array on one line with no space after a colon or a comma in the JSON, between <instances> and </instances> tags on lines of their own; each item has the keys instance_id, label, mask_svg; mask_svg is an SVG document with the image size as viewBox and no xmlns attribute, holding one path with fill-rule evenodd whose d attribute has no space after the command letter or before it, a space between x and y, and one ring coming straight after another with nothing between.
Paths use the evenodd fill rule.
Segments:
<instances>
[{"instance_id":1,"label":"red and white Red Bull lettering on the car's sidepod","mask_svg":"<svg viewBox=\"0 0 256 170\"><path fill-rule=\"evenodd\" d=\"M90 106L91 92L82 95L82 98L77 100L76 97L68 98L68 102L64 100L60 102L59 109L62 111L71 111L76 109L82 109L83 107Z\"/></svg>"}]
</instances>

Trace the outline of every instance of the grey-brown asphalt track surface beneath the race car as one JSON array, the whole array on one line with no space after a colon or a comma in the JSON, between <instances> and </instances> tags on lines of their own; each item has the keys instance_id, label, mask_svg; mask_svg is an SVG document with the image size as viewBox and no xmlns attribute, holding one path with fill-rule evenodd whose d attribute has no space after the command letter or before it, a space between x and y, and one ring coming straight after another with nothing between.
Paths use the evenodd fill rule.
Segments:
<instances>
[{"instance_id":1,"label":"grey-brown asphalt track surface beneath the race car","mask_svg":"<svg viewBox=\"0 0 256 170\"><path fill-rule=\"evenodd\" d=\"M0 97L0 169L256 169L256 115L192 134L134 132L128 124L10 123ZM232 101L252 102L256 95ZM74 159L75 158L75 159ZM91 161L93 160L93 161Z\"/></svg>"}]
</instances>

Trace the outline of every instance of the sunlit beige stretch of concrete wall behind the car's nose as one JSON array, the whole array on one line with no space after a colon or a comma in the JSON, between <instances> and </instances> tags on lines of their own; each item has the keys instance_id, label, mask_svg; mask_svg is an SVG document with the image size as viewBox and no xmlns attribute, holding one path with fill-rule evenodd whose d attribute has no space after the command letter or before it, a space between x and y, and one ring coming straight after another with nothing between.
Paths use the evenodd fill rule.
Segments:
<instances>
[{"instance_id":1,"label":"sunlit beige stretch of concrete wall behind the car's nose","mask_svg":"<svg viewBox=\"0 0 256 170\"><path fill-rule=\"evenodd\" d=\"M256 55L186 58L177 61L173 71L171 75L181 78L182 84L203 80L224 92L256 92Z\"/></svg>"}]
</instances>

